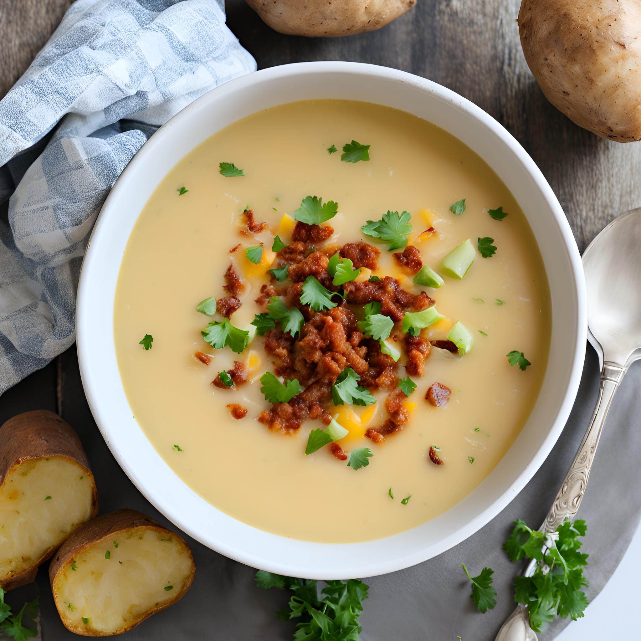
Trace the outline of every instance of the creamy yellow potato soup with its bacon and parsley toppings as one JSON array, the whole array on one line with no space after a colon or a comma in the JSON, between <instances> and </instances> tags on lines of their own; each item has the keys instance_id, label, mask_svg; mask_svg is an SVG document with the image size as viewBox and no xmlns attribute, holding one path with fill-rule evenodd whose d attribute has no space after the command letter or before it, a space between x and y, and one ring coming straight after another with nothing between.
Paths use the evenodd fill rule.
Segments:
<instances>
[{"instance_id":1,"label":"creamy yellow potato soup with its bacon and parsley toppings","mask_svg":"<svg viewBox=\"0 0 641 641\"><path fill-rule=\"evenodd\" d=\"M429 122L337 100L185 156L138 217L114 317L133 415L176 474L256 528L331 543L472 492L537 400L550 326L537 242L490 167Z\"/></svg>"}]
</instances>

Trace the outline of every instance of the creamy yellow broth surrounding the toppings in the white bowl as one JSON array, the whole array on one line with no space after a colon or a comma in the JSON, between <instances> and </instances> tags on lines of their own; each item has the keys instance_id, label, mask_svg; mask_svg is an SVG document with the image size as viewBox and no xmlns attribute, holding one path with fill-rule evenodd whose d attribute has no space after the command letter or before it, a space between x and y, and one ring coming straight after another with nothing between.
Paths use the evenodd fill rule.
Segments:
<instances>
[{"instance_id":1,"label":"creamy yellow broth surrounding the toppings in the white bowl","mask_svg":"<svg viewBox=\"0 0 641 641\"><path fill-rule=\"evenodd\" d=\"M340 161L351 140L370 144L370 161ZM334 144L338 153L326 148ZM245 176L225 178L219 162L233 162ZM188 191L179 195L179 188ZM461 320L474 334L462 358L433 350L423 378L408 399L410 421L382 444L363 437L365 425L339 417L351 432L344 449L370 447L374 456L360 470L347 467L323 448L304 455L307 420L293 436L271 432L256 417L267 407L258 378L272 370L256 337L239 356L215 350L200 330L210 318L195 311L199 301L224 296L229 249L258 240L272 244L281 216L294 212L308 194L338 202L329 243L367 240L381 249L379 274L400 276L387 246L363 237L360 226L390 210L412 212L415 232L439 232L417 245L424 264L440 272L440 260L471 238L494 238L497 253L477 254L463 280L427 289L449 320L424 330L445 338ZM449 206L466 198L459 216ZM527 203L524 203L527 206ZM250 206L271 231L240 235ZM495 221L488 208L509 215ZM290 226L281 226L289 242ZM411 239L412 240L412 239ZM244 250L232 254L250 287L233 324L245 327L254 313L268 264L251 265ZM265 252L269 262L269 252ZM412 277L403 286L417 292ZM497 299L504 301L498 304ZM217 317L218 318L218 317ZM488 165L462 142L429 122L387 107L355 101L319 100L286 104L255 113L215 134L185 156L162 179L129 238L115 297L114 333L124 389L136 420L168 465L217 508L256 528L319 542L358 542L387 537L433 519L483 481L517 437L537 399L549 351L549 289L537 242L512 194ZM487 333L481 335L478 330ZM153 348L138 344L149 333ZM523 351L526 371L511 367L509 351ZM194 358L211 354L209 366ZM248 354L251 353L251 357ZM251 379L240 389L211 385L217 372L246 359ZM402 361L401 361L402 363ZM399 376L406 376L399 367ZM452 390L449 403L424 399L431 383ZM369 426L385 419L380 397ZM234 420L225 405L249 411ZM440 447L445 465L429 461ZM174 445L178 445L178 451ZM470 462L473 458L473 462ZM394 499L388 490L392 488ZM401 499L412 495L406 504Z\"/></svg>"}]
</instances>

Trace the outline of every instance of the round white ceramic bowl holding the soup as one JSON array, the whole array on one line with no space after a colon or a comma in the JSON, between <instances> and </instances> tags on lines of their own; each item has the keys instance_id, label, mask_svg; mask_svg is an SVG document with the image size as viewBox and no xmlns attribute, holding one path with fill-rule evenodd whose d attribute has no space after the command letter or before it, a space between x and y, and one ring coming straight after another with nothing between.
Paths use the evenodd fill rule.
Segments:
<instances>
[{"instance_id":1,"label":"round white ceramic bowl holding the soup","mask_svg":"<svg viewBox=\"0 0 641 641\"><path fill-rule=\"evenodd\" d=\"M549 365L540 397L499 465L472 494L436 519L390 539L358 544L279 537L233 519L190 490L133 420L113 344L121 256L138 214L163 176L231 122L313 98L357 98L395 107L437 124L476 151L525 208L547 269L553 308ZM587 326L583 268L574 237L543 174L512 135L474 104L429 80L350 62L284 65L232 80L190 104L151 137L99 215L83 263L76 321L89 405L113 456L140 492L208 547L260 569L314 579L372 576L408 567L453 547L497 515L535 474L565 425L581 377Z\"/></svg>"}]
</instances>

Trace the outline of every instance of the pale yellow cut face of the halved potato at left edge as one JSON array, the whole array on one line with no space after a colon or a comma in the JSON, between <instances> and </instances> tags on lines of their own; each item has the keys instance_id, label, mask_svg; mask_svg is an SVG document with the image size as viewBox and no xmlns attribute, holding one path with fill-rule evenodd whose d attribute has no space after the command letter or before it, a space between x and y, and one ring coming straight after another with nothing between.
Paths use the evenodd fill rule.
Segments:
<instances>
[{"instance_id":1,"label":"pale yellow cut face of the halved potato at left edge","mask_svg":"<svg viewBox=\"0 0 641 641\"><path fill-rule=\"evenodd\" d=\"M92 490L86 470L67 458L15 467L0 490L0 579L33 567L89 519Z\"/></svg>"}]
</instances>

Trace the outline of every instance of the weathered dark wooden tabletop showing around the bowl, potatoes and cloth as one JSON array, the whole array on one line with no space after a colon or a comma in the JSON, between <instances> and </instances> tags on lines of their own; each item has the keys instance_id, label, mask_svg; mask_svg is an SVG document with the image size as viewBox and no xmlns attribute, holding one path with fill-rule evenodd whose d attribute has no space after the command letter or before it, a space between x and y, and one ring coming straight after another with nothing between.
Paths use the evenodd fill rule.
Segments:
<instances>
[{"instance_id":1,"label":"weathered dark wooden tabletop showing around the bowl, potatoes and cloth","mask_svg":"<svg viewBox=\"0 0 641 641\"><path fill-rule=\"evenodd\" d=\"M543 171L583 251L606 222L641 205L635 189L641 175L641 144L597 138L547 103L520 51L519 3L418 0L410 12L379 31L331 39L276 33L243 0L228 0L226 8L229 27L259 69L310 60L374 63L429 78L481 106ZM0 96L28 67L69 4L70 0L0 0ZM6 204L0 215L6 215ZM96 429L81 387L75 347L1 397L0 424L35 408L54 410L76 428ZM97 483L108 487L113 474L107 465L110 454L101 441L93 449L87 454ZM101 496L102 511L118 507L117 497Z\"/></svg>"}]
</instances>

